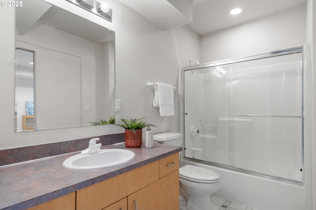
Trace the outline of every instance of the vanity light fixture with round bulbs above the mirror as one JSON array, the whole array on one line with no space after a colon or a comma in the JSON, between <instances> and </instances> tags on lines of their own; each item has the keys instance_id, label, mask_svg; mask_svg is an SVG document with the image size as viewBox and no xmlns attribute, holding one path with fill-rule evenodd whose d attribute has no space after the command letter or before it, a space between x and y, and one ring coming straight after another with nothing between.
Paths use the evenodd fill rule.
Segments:
<instances>
[{"instance_id":1,"label":"vanity light fixture with round bulbs above the mirror","mask_svg":"<svg viewBox=\"0 0 316 210\"><path fill-rule=\"evenodd\" d=\"M67 0L67 1L112 22L112 9L105 2L100 3L96 0Z\"/></svg>"}]
</instances>

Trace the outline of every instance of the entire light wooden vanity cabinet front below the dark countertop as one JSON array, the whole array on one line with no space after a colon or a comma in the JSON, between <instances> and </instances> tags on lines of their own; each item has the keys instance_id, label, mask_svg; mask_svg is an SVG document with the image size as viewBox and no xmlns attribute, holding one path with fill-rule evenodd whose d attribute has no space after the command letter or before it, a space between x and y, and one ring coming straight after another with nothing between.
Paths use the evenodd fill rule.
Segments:
<instances>
[{"instance_id":1,"label":"entire light wooden vanity cabinet front below the dark countertop","mask_svg":"<svg viewBox=\"0 0 316 210\"><path fill-rule=\"evenodd\" d=\"M30 210L179 210L179 153Z\"/></svg>"}]
</instances>

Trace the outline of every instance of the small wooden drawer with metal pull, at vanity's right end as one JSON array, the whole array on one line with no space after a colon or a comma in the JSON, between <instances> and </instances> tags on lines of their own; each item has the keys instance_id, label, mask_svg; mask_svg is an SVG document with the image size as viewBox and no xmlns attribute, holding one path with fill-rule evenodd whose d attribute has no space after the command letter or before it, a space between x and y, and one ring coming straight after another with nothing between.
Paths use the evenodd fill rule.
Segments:
<instances>
[{"instance_id":1,"label":"small wooden drawer with metal pull, at vanity's right end","mask_svg":"<svg viewBox=\"0 0 316 210\"><path fill-rule=\"evenodd\" d=\"M179 169L179 153L159 160L159 178Z\"/></svg>"}]
</instances>

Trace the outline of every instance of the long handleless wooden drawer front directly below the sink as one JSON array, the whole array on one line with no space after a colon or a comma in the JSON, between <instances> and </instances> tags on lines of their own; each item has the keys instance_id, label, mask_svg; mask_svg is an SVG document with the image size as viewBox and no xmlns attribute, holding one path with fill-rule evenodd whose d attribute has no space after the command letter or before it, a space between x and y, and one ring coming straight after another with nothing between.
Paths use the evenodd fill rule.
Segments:
<instances>
[{"instance_id":1,"label":"long handleless wooden drawer front directly below the sink","mask_svg":"<svg viewBox=\"0 0 316 210\"><path fill-rule=\"evenodd\" d=\"M77 191L77 210L101 210L159 179L159 161Z\"/></svg>"}]
</instances>

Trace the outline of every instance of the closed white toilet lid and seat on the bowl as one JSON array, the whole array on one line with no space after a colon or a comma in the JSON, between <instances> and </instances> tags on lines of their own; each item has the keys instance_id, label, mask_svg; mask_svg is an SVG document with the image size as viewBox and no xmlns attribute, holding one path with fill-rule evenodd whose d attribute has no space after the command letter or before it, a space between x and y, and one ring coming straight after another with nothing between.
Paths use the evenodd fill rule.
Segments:
<instances>
[{"instance_id":1,"label":"closed white toilet lid and seat on the bowl","mask_svg":"<svg viewBox=\"0 0 316 210\"><path fill-rule=\"evenodd\" d=\"M179 174L181 178L196 182L212 183L219 180L219 175L216 172L192 165L181 167Z\"/></svg>"}]
</instances>

